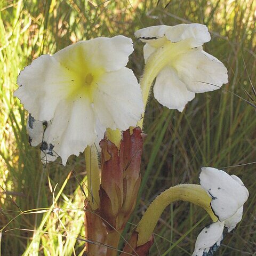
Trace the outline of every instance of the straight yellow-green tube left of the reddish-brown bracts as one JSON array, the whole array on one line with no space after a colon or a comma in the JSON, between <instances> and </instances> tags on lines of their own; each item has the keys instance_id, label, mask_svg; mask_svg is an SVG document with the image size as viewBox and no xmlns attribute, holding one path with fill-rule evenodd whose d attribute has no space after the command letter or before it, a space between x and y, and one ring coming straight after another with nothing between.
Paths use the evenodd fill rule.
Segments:
<instances>
[{"instance_id":1,"label":"straight yellow-green tube left of the reddish-brown bracts","mask_svg":"<svg viewBox=\"0 0 256 256\"><path fill-rule=\"evenodd\" d=\"M99 208L100 197L100 170L97 156L97 148L93 146L87 146L84 151L85 154L85 167L87 172L87 186L89 203L92 210Z\"/></svg>"}]
</instances>

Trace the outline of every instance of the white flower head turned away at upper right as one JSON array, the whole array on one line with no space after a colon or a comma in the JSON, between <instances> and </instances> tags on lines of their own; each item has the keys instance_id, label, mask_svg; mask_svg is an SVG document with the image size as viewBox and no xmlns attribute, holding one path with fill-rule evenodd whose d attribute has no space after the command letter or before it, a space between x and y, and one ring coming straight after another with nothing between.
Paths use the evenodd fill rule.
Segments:
<instances>
[{"instance_id":1,"label":"white flower head turned away at upper right","mask_svg":"<svg viewBox=\"0 0 256 256\"><path fill-rule=\"evenodd\" d=\"M146 43L146 67L152 59L158 62L154 95L163 106L182 111L195 93L217 90L228 82L226 67L203 51L202 45L211 39L205 25L153 26L135 36Z\"/></svg>"}]
</instances>

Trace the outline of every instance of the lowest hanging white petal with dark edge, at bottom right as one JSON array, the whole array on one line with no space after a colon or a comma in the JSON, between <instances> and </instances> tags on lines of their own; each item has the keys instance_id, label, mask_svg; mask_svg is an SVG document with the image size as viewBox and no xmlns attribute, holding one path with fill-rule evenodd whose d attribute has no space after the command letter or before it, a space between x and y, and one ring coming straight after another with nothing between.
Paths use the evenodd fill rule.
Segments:
<instances>
[{"instance_id":1,"label":"lowest hanging white petal with dark edge, at bottom right","mask_svg":"<svg viewBox=\"0 0 256 256\"><path fill-rule=\"evenodd\" d=\"M211 256L221 245L224 223L217 221L206 226L196 239L192 256Z\"/></svg>"}]
</instances>

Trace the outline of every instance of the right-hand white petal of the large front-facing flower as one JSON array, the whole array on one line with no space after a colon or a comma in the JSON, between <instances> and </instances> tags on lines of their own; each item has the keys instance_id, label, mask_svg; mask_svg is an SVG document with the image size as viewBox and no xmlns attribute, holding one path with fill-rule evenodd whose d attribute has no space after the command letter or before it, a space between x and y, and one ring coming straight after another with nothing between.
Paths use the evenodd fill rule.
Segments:
<instances>
[{"instance_id":1,"label":"right-hand white petal of the large front-facing flower","mask_svg":"<svg viewBox=\"0 0 256 256\"><path fill-rule=\"evenodd\" d=\"M141 89L132 70L106 73L94 95L94 109L103 126L126 130L141 119Z\"/></svg>"}]
</instances>

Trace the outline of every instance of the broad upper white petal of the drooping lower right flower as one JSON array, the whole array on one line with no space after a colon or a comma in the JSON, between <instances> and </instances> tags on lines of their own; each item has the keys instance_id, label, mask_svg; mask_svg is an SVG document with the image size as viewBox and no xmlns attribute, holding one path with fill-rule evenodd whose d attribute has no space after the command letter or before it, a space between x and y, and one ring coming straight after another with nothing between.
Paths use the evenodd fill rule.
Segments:
<instances>
[{"instance_id":1,"label":"broad upper white petal of the drooping lower right flower","mask_svg":"<svg viewBox=\"0 0 256 256\"><path fill-rule=\"evenodd\" d=\"M246 202L248 190L226 172L212 167L202 167L201 186L212 196L211 207L220 221L233 216Z\"/></svg>"}]
</instances>

